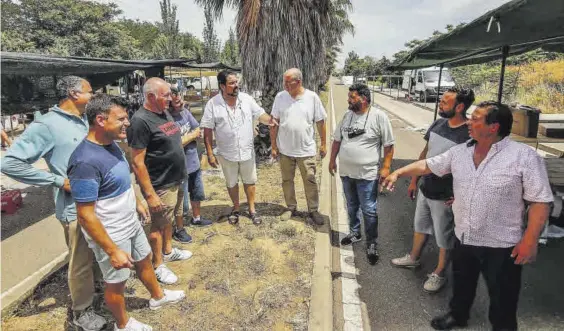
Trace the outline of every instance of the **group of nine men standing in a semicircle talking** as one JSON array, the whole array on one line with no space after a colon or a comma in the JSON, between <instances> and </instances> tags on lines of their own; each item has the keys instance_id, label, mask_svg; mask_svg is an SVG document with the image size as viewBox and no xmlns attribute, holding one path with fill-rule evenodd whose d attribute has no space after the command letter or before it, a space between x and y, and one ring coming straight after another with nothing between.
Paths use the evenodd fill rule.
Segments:
<instances>
[{"instance_id":1,"label":"group of nine men standing in a semicircle talking","mask_svg":"<svg viewBox=\"0 0 564 331\"><path fill-rule=\"evenodd\" d=\"M116 320L115 330L151 330L125 311L130 268L135 267L150 292L151 309L185 298L183 291L163 290L158 283L176 283L178 277L166 263L192 256L172 246L173 238L181 243L192 240L184 228L190 206L190 225L212 224L200 215L205 194L196 140L202 135L201 128L208 163L214 168L221 165L233 203L230 224L237 224L241 215L239 178L249 218L255 225L262 222L255 206L255 121L270 126L272 157L280 159L287 207L281 219L298 214L294 188L298 168L308 216L318 225L324 223L319 213L316 156L327 154L327 114L317 94L303 87L302 79L299 69L284 73L284 91L277 94L269 115L250 95L239 91L235 73L222 71L218 75L220 93L206 104L201 124L178 91L160 78L147 80L144 104L131 119L120 98L93 96L90 84L79 77L59 80L61 101L14 141L2 160L2 172L28 184L54 187L56 216L70 253L74 324L86 330L100 330L106 324L91 308L94 258L106 283L104 295ZM361 240L362 213L367 258L375 264L379 260L380 187L392 190L398 177L412 176L408 194L417 201L413 246L392 264L419 266L423 245L428 235L434 235L440 248L438 263L423 288L437 292L446 283L445 270L452 260L450 311L431 325L440 330L466 325L482 272L491 299L493 329L516 330L522 264L536 256L552 193L542 159L507 137L512 125L510 109L481 103L468 120L466 112L473 102L471 90L446 92L440 102L442 118L426 133L420 161L391 172L395 140L390 120L372 106L368 86L349 88L349 111L333 134L329 161L329 172L334 175L339 156L338 173L350 224L341 245ZM116 144L124 139L130 147L130 164ZM39 158L47 161L50 172L32 166ZM135 195L131 171L148 208ZM525 231L524 201L528 204Z\"/></svg>"}]
</instances>

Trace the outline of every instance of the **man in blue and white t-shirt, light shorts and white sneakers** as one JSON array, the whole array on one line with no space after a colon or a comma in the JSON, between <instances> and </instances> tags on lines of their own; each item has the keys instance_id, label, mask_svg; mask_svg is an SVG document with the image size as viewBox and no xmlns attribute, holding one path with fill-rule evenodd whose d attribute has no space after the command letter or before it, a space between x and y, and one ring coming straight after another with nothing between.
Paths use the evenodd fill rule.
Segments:
<instances>
[{"instance_id":1,"label":"man in blue and white t-shirt, light shorts and white sneakers","mask_svg":"<svg viewBox=\"0 0 564 331\"><path fill-rule=\"evenodd\" d=\"M149 211L136 198L123 151L115 143L129 126L126 101L105 94L86 106L90 131L69 159L68 175L82 231L102 270L104 298L116 320L114 330L150 331L152 328L125 309L125 283L135 266L149 291L149 308L160 309L186 297L184 291L163 290L151 264L151 246L139 221Z\"/></svg>"}]
</instances>

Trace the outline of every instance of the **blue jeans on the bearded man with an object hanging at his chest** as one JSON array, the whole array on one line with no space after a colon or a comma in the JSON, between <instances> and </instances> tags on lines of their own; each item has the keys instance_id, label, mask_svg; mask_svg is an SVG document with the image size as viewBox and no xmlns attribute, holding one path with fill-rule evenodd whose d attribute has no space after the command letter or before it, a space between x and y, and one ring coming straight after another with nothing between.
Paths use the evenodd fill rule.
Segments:
<instances>
[{"instance_id":1,"label":"blue jeans on the bearded man with an object hanging at his chest","mask_svg":"<svg viewBox=\"0 0 564 331\"><path fill-rule=\"evenodd\" d=\"M362 210L364 228L366 232L366 245L376 243L378 239L378 180L355 179L341 177L343 190L347 200L347 214L351 232L360 233L359 209Z\"/></svg>"}]
</instances>

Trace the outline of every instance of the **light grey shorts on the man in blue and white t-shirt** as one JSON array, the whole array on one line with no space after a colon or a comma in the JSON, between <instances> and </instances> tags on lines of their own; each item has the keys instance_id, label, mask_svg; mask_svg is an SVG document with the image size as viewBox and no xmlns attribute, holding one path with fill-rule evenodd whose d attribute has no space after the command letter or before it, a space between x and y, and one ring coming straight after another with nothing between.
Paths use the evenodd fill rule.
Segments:
<instances>
[{"instance_id":1,"label":"light grey shorts on the man in blue and white t-shirt","mask_svg":"<svg viewBox=\"0 0 564 331\"><path fill-rule=\"evenodd\" d=\"M133 262L139 262L151 254L151 246L147 240L147 235L143 231L141 223L137 223L137 230L127 239L117 242L116 245L124 252L131 254ZM104 281L110 284L125 282L131 275L129 268L116 270L110 262L110 257L102 247L98 246L94 241L88 241L88 245L92 248L96 261L102 271Z\"/></svg>"}]
</instances>

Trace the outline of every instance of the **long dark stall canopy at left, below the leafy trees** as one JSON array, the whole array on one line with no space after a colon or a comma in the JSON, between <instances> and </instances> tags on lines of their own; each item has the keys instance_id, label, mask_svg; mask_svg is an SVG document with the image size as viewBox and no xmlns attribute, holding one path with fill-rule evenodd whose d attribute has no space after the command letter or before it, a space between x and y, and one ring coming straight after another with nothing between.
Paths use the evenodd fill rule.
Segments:
<instances>
[{"instance_id":1,"label":"long dark stall canopy at left, below the leafy trees","mask_svg":"<svg viewBox=\"0 0 564 331\"><path fill-rule=\"evenodd\" d=\"M182 67L191 59L114 60L2 52L2 75L48 76L125 73L165 66Z\"/></svg>"}]
</instances>

